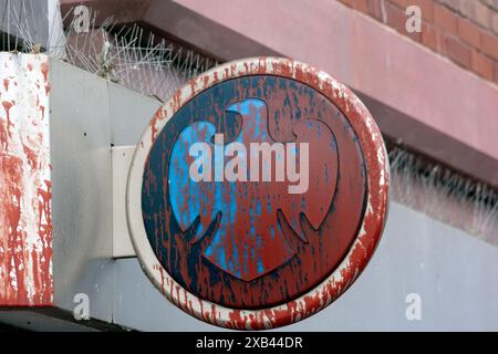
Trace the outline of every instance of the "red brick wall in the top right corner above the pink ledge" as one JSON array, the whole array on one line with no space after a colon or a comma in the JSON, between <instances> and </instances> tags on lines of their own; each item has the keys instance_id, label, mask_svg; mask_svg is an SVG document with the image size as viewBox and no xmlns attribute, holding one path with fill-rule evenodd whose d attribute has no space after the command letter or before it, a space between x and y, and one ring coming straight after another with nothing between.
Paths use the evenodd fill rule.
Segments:
<instances>
[{"instance_id":1,"label":"red brick wall in the top right corner above the pink ledge","mask_svg":"<svg viewBox=\"0 0 498 354\"><path fill-rule=\"evenodd\" d=\"M498 83L498 0L339 1ZM422 32L406 32L408 6L421 8Z\"/></svg>"}]
</instances>

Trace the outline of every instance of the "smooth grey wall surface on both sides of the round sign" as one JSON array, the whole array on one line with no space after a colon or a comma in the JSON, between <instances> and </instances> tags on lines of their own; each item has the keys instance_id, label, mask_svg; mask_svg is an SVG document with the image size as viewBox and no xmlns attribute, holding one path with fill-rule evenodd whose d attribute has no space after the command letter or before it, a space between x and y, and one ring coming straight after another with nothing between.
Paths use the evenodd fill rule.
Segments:
<instances>
[{"instance_id":1,"label":"smooth grey wall surface on both sides of the round sign","mask_svg":"<svg viewBox=\"0 0 498 354\"><path fill-rule=\"evenodd\" d=\"M51 62L54 302L137 330L214 331L170 304L135 258L112 254L111 144L135 144L159 103ZM126 178L126 176L123 176ZM392 204L365 272L336 302L282 330L498 330L498 248ZM405 315L409 293L422 320Z\"/></svg>"}]
</instances>

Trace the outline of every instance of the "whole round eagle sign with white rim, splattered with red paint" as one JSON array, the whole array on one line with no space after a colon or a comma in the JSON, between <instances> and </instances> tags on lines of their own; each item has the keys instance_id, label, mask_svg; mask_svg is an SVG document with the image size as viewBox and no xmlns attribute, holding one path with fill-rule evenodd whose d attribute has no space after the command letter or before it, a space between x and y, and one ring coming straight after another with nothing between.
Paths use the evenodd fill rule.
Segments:
<instances>
[{"instance_id":1,"label":"whole round eagle sign with white rim, splattered with red paint","mask_svg":"<svg viewBox=\"0 0 498 354\"><path fill-rule=\"evenodd\" d=\"M387 210L381 133L343 84L288 59L236 61L180 88L136 147L127 220L177 306L260 330L322 310L361 273Z\"/></svg>"}]
</instances>

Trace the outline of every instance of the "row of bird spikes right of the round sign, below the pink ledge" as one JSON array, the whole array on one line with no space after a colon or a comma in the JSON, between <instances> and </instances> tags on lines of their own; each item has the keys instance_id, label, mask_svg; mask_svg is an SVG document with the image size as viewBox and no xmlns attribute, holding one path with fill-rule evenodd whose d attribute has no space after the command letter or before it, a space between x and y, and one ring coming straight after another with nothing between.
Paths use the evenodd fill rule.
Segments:
<instances>
[{"instance_id":1,"label":"row of bird spikes right of the round sign, below the pink ledge","mask_svg":"<svg viewBox=\"0 0 498 354\"><path fill-rule=\"evenodd\" d=\"M394 200L498 244L496 189L400 146L388 155Z\"/></svg>"}]
</instances>

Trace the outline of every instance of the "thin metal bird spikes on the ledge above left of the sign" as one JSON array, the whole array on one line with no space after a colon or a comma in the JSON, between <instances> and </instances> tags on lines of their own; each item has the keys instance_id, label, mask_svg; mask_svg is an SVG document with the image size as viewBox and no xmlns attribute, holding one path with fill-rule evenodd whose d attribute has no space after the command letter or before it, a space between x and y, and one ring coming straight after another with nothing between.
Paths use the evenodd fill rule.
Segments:
<instances>
[{"instance_id":1,"label":"thin metal bird spikes on the ledge above left of the sign","mask_svg":"<svg viewBox=\"0 0 498 354\"><path fill-rule=\"evenodd\" d=\"M137 24L118 25L113 17L97 25L97 14L89 9L90 31L79 33L72 8L63 17L59 8L37 13L32 0L4 0L0 13L2 44L8 51L45 52L101 77L142 94L166 101L179 86L217 62L194 51L167 42ZM33 23L49 19L45 43L37 42ZM59 19L56 19L59 15ZM65 23L63 33L54 23ZM37 22L38 21L38 22Z\"/></svg>"}]
</instances>

